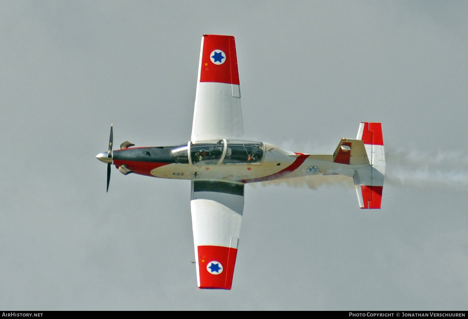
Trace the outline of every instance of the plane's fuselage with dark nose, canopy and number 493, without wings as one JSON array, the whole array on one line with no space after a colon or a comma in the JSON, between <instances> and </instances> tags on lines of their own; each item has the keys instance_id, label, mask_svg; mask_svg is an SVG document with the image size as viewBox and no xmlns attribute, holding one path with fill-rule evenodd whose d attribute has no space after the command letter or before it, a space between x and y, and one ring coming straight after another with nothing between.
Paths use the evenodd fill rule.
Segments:
<instances>
[{"instance_id":1,"label":"plane's fuselage with dark nose, canopy and number 493, without wings","mask_svg":"<svg viewBox=\"0 0 468 319\"><path fill-rule=\"evenodd\" d=\"M350 166L358 168L334 163L332 155L308 155L264 142L226 139L178 146L124 148L113 151L112 159L124 174L238 183L316 174L352 176Z\"/></svg>"}]
</instances>

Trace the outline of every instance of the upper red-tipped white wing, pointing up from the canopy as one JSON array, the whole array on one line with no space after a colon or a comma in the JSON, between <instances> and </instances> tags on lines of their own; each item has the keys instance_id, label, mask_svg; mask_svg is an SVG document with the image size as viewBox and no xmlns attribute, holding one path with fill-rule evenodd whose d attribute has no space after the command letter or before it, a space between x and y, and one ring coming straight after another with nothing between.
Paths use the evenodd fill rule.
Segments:
<instances>
[{"instance_id":1,"label":"upper red-tipped white wing, pointing up from the canopy","mask_svg":"<svg viewBox=\"0 0 468 319\"><path fill-rule=\"evenodd\" d=\"M223 138L244 138L235 42L233 36L204 35L191 141Z\"/></svg>"}]
</instances>

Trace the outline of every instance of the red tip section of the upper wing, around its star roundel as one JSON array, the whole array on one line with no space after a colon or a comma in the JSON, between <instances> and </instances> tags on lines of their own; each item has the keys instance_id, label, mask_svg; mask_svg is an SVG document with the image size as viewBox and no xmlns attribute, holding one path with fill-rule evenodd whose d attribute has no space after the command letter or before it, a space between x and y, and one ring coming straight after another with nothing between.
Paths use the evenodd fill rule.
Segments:
<instances>
[{"instance_id":1,"label":"red tip section of the upper wing, around its star roundel","mask_svg":"<svg viewBox=\"0 0 468 319\"><path fill-rule=\"evenodd\" d=\"M226 54L222 64L216 65L211 60L211 53L221 50ZM204 35L200 82L219 82L239 85L237 55L233 36Z\"/></svg>"}]
</instances>

